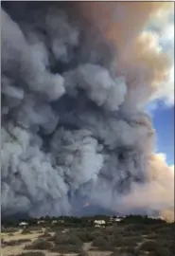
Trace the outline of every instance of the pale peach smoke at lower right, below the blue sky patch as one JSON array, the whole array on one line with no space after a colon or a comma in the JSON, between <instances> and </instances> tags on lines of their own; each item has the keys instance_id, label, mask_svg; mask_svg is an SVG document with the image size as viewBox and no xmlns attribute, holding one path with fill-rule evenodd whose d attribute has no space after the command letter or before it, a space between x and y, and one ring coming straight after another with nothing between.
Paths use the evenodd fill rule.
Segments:
<instances>
[{"instance_id":1,"label":"pale peach smoke at lower right, below the blue sky patch","mask_svg":"<svg viewBox=\"0 0 175 256\"><path fill-rule=\"evenodd\" d=\"M169 168L166 164L166 155L162 153L151 155L149 165L149 184L142 186L133 184L131 194L125 198L126 205L128 207L130 204L132 207L134 204L141 207L147 206L152 210L164 210L169 206L173 209L174 179L172 167Z\"/></svg>"}]
</instances>

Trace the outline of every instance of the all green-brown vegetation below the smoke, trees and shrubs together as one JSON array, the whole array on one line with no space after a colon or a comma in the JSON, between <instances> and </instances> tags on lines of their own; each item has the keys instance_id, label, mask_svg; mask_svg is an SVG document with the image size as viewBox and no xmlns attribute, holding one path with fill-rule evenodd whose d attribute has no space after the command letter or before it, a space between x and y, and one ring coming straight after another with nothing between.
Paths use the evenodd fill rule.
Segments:
<instances>
[{"instance_id":1,"label":"all green-brown vegetation below the smoke, trees and shrubs together","mask_svg":"<svg viewBox=\"0 0 175 256\"><path fill-rule=\"evenodd\" d=\"M96 228L96 219L105 220L105 227ZM108 251L111 256L175 255L175 223L166 223L165 220L151 219L148 216L127 216L120 222L115 222L114 219L115 217L111 219L99 215L90 218L46 216L40 220L23 220L27 222L23 230L19 226L21 220L12 226L3 223L5 238L1 241L2 247L23 245L24 251L17 256L44 256L50 253L87 256L95 255L96 251ZM14 238L17 230L20 236L24 235L24 239L6 240L11 234ZM32 234L37 236L30 241ZM88 247L84 247L85 245Z\"/></svg>"}]
</instances>

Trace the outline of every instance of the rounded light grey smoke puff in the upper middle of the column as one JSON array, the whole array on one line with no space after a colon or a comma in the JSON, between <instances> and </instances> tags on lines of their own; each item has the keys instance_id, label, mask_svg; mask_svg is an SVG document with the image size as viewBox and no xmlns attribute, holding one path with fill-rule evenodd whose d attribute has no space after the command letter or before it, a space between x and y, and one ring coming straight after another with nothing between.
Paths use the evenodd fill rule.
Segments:
<instances>
[{"instance_id":1,"label":"rounded light grey smoke puff in the upper middle of the column","mask_svg":"<svg viewBox=\"0 0 175 256\"><path fill-rule=\"evenodd\" d=\"M75 84L74 84L75 83ZM66 75L67 87L80 87L98 106L110 111L118 110L125 100L127 86L124 78L112 79L107 69L95 64L83 64Z\"/></svg>"}]
</instances>

